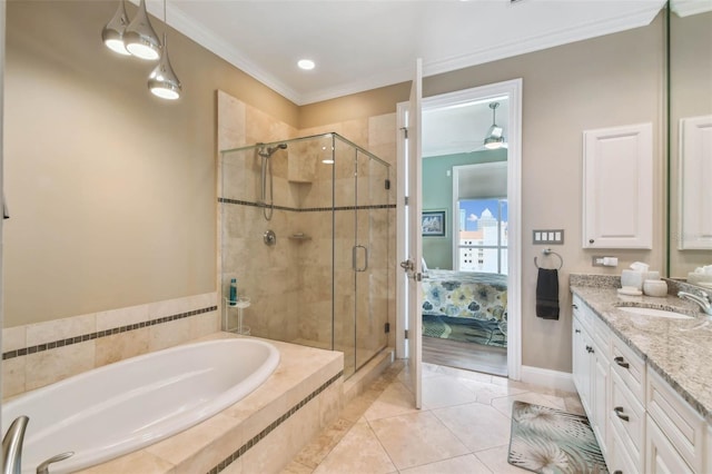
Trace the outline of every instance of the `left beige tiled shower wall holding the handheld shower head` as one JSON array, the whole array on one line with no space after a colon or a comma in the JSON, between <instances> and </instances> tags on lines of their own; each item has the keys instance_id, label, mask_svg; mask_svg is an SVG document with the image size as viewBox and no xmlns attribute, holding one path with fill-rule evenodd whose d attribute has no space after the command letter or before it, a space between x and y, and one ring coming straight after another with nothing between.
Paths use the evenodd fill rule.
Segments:
<instances>
[{"instance_id":1,"label":"left beige tiled shower wall holding the handheld shower head","mask_svg":"<svg viewBox=\"0 0 712 474\"><path fill-rule=\"evenodd\" d=\"M218 142L221 149L256 142L285 140L296 130L251 106L218 91ZM270 158L274 203L294 208L301 198L288 181L290 149L278 150ZM261 198L261 158L253 150L226 154L218 158L218 196L257 203ZM267 199L269 195L267 194ZM255 206L221 204L218 213L220 251L218 255L219 307L235 320L237 309L224 308L224 295L230 278L237 278L238 294L250 298L244 310L244 325L251 334L278 340L293 340L298 334L299 280L294 271L295 243L293 211L274 209L266 220ZM277 235L277 245L267 246L267 230ZM222 314L222 313L221 313Z\"/></svg>"}]
</instances>

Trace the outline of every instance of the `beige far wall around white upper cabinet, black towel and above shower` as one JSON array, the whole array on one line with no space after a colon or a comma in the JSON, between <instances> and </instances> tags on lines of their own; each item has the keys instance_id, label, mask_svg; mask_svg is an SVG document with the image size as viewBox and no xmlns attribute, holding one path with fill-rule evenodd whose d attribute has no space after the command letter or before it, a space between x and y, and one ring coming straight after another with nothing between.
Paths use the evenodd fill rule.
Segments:
<instances>
[{"instance_id":1,"label":"beige far wall around white upper cabinet, black towel and above shower","mask_svg":"<svg viewBox=\"0 0 712 474\"><path fill-rule=\"evenodd\" d=\"M424 96L432 97L482 85L523 78L522 124L522 335L523 364L571 372L571 273L620 274L644 260L655 269L664 263L663 72L664 26L660 16L649 27L580 41L487 65L427 77ZM407 100L394 90L392 101ZM383 97L362 95L383 107ZM301 121L348 110L353 98L303 107ZM368 107L362 105L362 109ZM312 113L314 113L313 117ZM332 120L334 117L332 117ZM582 131L651 121L654 130L655 201L653 250L582 249ZM535 316L536 268L541 246L531 244L535 228L563 228L562 314L557 322ZM591 266L593 255L620 258L617 268Z\"/></svg>"}]
</instances>

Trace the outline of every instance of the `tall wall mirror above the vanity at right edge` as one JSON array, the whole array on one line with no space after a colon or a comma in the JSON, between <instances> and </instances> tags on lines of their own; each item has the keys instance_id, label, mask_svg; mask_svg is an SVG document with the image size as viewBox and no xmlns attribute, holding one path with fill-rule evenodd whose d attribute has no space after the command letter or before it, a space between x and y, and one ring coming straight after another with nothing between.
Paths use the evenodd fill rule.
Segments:
<instances>
[{"instance_id":1,"label":"tall wall mirror above the vanity at right edge","mask_svg":"<svg viewBox=\"0 0 712 474\"><path fill-rule=\"evenodd\" d=\"M712 265L712 3L671 1L669 20L668 268L698 283Z\"/></svg>"}]
</instances>

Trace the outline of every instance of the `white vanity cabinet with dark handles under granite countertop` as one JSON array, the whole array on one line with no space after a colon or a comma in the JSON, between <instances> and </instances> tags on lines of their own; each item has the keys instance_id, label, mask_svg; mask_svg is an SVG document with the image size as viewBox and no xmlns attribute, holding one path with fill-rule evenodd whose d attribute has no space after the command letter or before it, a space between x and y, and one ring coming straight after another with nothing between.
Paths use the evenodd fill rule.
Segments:
<instances>
[{"instance_id":1,"label":"white vanity cabinet with dark handles under granite countertop","mask_svg":"<svg viewBox=\"0 0 712 474\"><path fill-rule=\"evenodd\" d=\"M573 379L609 471L712 472L712 425L577 296Z\"/></svg>"}]
</instances>

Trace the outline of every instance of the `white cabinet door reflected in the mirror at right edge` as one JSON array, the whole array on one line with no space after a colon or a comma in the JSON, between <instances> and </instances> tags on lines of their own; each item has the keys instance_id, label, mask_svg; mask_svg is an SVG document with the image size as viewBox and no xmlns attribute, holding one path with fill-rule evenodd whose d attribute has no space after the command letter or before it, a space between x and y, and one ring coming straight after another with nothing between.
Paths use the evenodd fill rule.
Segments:
<instances>
[{"instance_id":1,"label":"white cabinet door reflected in the mirror at right edge","mask_svg":"<svg viewBox=\"0 0 712 474\"><path fill-rule=\"evenodd\" d=\"M680 249L712 249L712 116L680 120Z\"/></svg>"}]
</instances>

